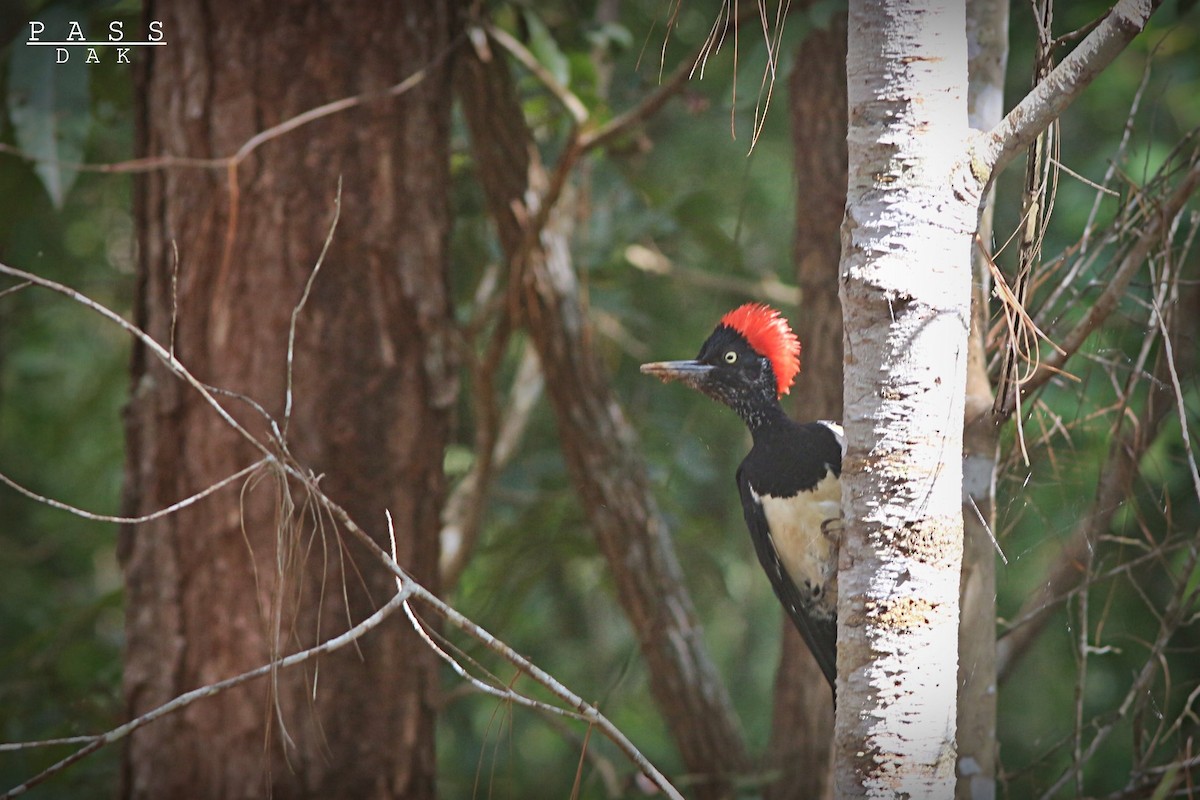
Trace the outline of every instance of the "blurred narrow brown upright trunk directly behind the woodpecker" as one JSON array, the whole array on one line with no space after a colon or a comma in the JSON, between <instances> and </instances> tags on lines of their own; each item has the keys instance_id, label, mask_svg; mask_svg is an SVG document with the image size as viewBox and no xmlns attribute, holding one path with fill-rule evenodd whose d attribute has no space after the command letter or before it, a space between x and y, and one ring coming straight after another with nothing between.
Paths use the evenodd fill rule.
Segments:
<instances>
[{"instance_id":1,"label":"blurred narrow brown upright trunk directly behind the woodpecker","mask_svg":"<svg viewBox=\"0 0 1200 800\"><path fill-rule=\"evenodd\" d=\"M808 4L811 6L812 4ZM796 331L804 347L797 417L841 419L841 306L838 261L846 209L846 17L810 30L791 76L796 154ZM812 654L784 619L775 674L770 765L779 772L770 800L829 796L833 697Z\"/></svg>"}]
</instances>

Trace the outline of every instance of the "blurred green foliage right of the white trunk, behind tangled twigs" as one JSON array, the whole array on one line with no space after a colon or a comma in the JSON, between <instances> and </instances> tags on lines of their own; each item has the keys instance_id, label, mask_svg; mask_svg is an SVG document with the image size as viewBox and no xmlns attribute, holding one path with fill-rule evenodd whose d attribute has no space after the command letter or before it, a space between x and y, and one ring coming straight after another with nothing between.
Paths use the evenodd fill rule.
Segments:
<instances>
[{"instance_id":1,"label":"blurred green foliage right of the white trunk, behind tangled twigs","mask_svg":"<svg viewBox=\"0 0 1200 800\"><path fill-rule=\"evenodd\" d=\"M1060 4L1056 35L1086 24L1105 7ZM1010 98L1020 96L1027 86L1032 35L1028 13L1014 8ZM1135 197L1175 144L1200 125L1200 106L1195 102L1200 77L1194 49L1198 35L1200 19L1194 12L1180 17L1164 10L1064 115L1060 158L1075 175L1063 172L1058 179L1054 216L1044 243L1048 264L1074 252L1090 221L1096 230L1110 223L1120 203ZM1130 118L1139 91L1140 106ZM1114 162L1127 125L1126 151ZM1103 181L1114 163L1122 197L1103 197L1093 216L1097 197L1093 185ZM998 241L1018 225L1021 174L1019 167L1010 168L1001 182ZM1198 209L1195 200L1190 207ZM1182 241L1183 234L1176 239L1176 245ZM1068 295L1064 303L1043 317L1051 339L1076 324L1106 285L1109 260L1115 252L1109 247L1105 255L1076 281L1078 293ZM1196 258L1193 251L1189 255L1193 276ZM1012 270L1014 260L1015 247L1010 247L1001 263ZM1163 267L1163 263L1156 264L1156 269ZM1056 285L1055 279L1040 285L1033 295L1032 307L1039 307ZM1171 536L1176 545L1194 537L1200 523L1200 506L1188 475L1182 432L1174 409L1156 445L1142 459L1133 497L1097 498L1100 469L1109 457L1116 423L1123 420L1122 431L1128 431L1133 416L1146 402L1144 385L1133 392L1128 408L1122 397L1127 384L1146 383L1146 375L1136 372L1135 359L1146 337L1154 332L1147 327L1150 301L1150 278L1144 269L1117 312L1093 333L1085 351L1072 360L1069 372L1078 383L1054 381L1026 415L1024 432L1026 441L1032 443L1031 463L1025 465L1018 457L1014 431L1008 432L1004 444L1009 457L1001 475L998 533L1008 564L997 567L1001 620L1014 620L1021 603L1039 588L1038 582L1056 561L1062 543L1093 504L1122 503L1111 531L1094 548L1091 564L1093 575L1114 575L1092 584L1086 606L1081 594L1060 606L1031 654L1000 688L1000 752L1006 770L1002 786L1013 798L1037 795L1072 763L1076 710L1081 711L1085 747L1099 728L1118 718L1117 708L1132 678L1148 657L1150 644L1158 633L1157 614L1180 578L1186 553L1176 549L1165 558L1147 559L1146 555ZM1196 409L1200 408L1196 404L1200 386L1195 380L1196 335L1193 325L1184 339L1175 342L1193 443L1196 441ZM1145 371L1152 367L1153 357ZM1128 572L1118 570L1136 558L1142 558L1141 567ZM1082 572L1087 565L1080 564L1079 569ZM1084 636L1081 621L1085 620L1090 655L1080 692L1079 676L1085 673L1079 650ZM1002 625L1002 630L1004 627ZM1145 698L1153 708L1156 721L1144 716L1120 718L1116 730L1088 762L1082 781L1085 794L1104 795L1122 788L1129 780L1135 742L1147 738L1142 728L1148 730L1158 724L1157 721L1178 716L1188 693L1200 681L1200 664L1194 657L1198 645L1200 631L1194 625L1184 626L1172 638L1163 661L1169 680L1159 678ZM1168 760L1174 748L1182 747L1187 736L1194 733L1193 724L1184 724L1160 745L1158 757ZM1070 783L1062 794L1073 790L1074 783Z\"/></svg>"}]
</instances>

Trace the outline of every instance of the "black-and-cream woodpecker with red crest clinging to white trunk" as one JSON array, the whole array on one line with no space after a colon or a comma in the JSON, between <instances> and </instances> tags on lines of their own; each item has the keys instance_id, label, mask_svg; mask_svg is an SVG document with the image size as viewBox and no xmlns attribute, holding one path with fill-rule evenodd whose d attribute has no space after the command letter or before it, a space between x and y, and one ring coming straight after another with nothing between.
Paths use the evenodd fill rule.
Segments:
<instances>
[{"instance_id":1,"label":"black-and-cream woodpecker with red crest clinging to white trunk","mask_svg":"<svg viewBox=\"0 0 1200 800\"><path fill-rule=\"evenodd\" d=\"M845 437L799 423L780 398L800 371L800 342L778 311L746 303L721 317L692 361L643 363L737 411L754 446L738 467L750 539L775 595L836 691L838 521Z\"/></svg>"}]
</instances>

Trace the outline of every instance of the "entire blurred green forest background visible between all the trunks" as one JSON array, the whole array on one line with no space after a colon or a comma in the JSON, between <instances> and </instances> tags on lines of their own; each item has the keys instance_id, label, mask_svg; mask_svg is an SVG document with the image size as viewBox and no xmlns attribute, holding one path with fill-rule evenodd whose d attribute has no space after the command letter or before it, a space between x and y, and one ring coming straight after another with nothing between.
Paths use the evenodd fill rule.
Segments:
<instances>
[{"instance_id":1,"label":"entire blurred green forest background visible between all the trunks","mask_svg":"<svg viewBox=\"0 0 1200 800\"><path fill-rule=\"evenodd\" d=\"M599 118L630 107L665 72L689 58L712 26L715 10L685 4L670 38L665 20L673 4L634 0L618 6L616 22L598 23L593 2L494 2L499 25L517 34ZM1130 184L1145 181L1172 146L1200 125L1200 13L1190 2L1168 2L1147 32L1088 89L1062 122L1061 160L1081 176L1099 180L1108 168L1128 109L1146 74L1141 104L1120 168ZM1075 29L1104 8L1098 2L1063 4L1056 32ZM726 676L754 752L766 745L770 686L778 658L780 610L758 572L745 535L733 471L746 434L731 414L694 393L662 387L637 372L652 359L689 357L728 307L745 300L698 285L684 276L662 277L636 269L626 248L660 251L690 270L744 282L763 277L794 283L792 231L794 173L786 76L791 54L812 25L836 4L793 12L784 36L780 80L761 140L750 150L751 125L766 50L757 24L742 31L737 91L733 47L713 56L703 80L688 84L636 136L595 154L582 172L586 216L577 221L574 255L588 291L600 345L618 396L638 428L659 501L673 524L688 584L706 638ZM1032 22L1014 4L1008 98L1028 85ZM23 66L28 19L79 19L90 31L110 20L126 30L140 25L133 2L0 2L0 143L66 162L120 162L133 156L133 76L112 58L72 65L52 77ZM608 67L596 68L596 56ZM611 70L611 71L610 71ZM568 120L560 107L520 68L526 113L544 156L552 160ZM36 79L35 79L36 78ZM608 83L611 82L611 83ZM607 84L607 86L606 86ZM31 109L52 109L58 138L37 138ZM736 138L731 137L732 127ZM35 139L31 139L34 137ZM499 253L470 169L464 126L456 122L455 234L451 282L461 317L470 313L475 288ZM997 240L1019 216L1021 170L1000 181ZM64 174L0 152L0 260L67 283L127 314L134 279L127 175ZM1052 258L1079 237L1096 191L1063 175L1045 253ZM1111 218L1116 199L1100 204ZM1196 204L1193 201L1193 209ZM1190 272L1196 277L1195 255ZM1010 266L1010 254L1001 259ZM1103 272L1096 281L1103 281ZM1084 282L1086 284L1086 281ZM0 291L13 285L0 279ZM1052 287L1042 287L1048 291ZM1031 447L1031 463L1016 458L1006 438L997 534L1007 564L998 565L998 613L1013 615L1043 579L1058 545L1093 499L1097 473L1108 452L1114 403L1146 337L1148 287L1135 281L1122 309L1072 363L1079 383L1055 383L1026 432L1046 440ZM1067 314L1079 314L1085 294ZM794 318L803 309L788 308ZM1194 333L1194 330L1193 330ZM806 342L805 347L820 347ZM517 338L508 375L521 350ZM83 307L41 290L0 295L0 473L40 494L97 513L116 513L121 491L121 409L127 392L128 341ZM1187 414L1200 425L1195 365L1181 365ZM797 413L803 416L804 377ZM469 390L469 386L468 386ZM462 402L448 469L470 462L470 407ZM676 754L649 693L637 645L613 600L604 559L587 529L557 449L545 403L512 461L493 488L475 557L451 602L528 655L583 697L595 700L643 752L670 771ZM1116 536L1130 541L1171 536L1195 539L1200 506L1192 488L1181 427L1168 421L1142 465L1138 491L1117 517ZM1190 531L1190 533L1188 533ZM122 721L120 656L121 582L114 554L116 528L49 509L0 486L0 738L23 741L96 733ZM1130 555L1120 542L1097 553L1098 569ZM1145 658L1145 640L1157 630L1153 608L1169 590L1162 570L1177 558L1151 564L1133 579L1098 584L1091 597L1097 644L1112 650L1090 658L1085 724L1103 721L1121 702ZM1158 593L1156 595L1156 593ZM1072 612L1074 613L1074 612ZM1078 632L1060 608L1046 632L1000 688L1002 792L1031 796L1069 760L1075 726ZM1100 625L1103 622L1103 625ZM1198 632L1184 627L1168 652L1171 686L1162 682L1164 718L1200 682ZM473 649L464 645L468 652ZM583 732L463 691L446 673L439 728L440 786L445 796L527 796L530 787L566 796ZM1105 795L1128 780L1128 720L1090 764L1084 790ZM1091 728L1088 728L1091 729ZM1176 746L1195 726L1184 726ZM626 765L598 738L589 747ZM61 748L0 753L0 788L10 788L64 756ZM73 766L35 796L109 796L116 783L118 751L106 748ZM600 796L594 774L586 783ZM1068 793L1073 793L1070 789Z\"/></svg>"}]
</instances>

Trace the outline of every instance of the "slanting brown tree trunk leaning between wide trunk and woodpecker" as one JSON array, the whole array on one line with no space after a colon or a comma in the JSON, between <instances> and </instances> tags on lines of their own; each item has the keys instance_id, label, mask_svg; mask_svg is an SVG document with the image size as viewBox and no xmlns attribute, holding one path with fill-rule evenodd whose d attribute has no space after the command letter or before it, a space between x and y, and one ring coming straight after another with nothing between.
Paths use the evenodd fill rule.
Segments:
<instances>
[{"instance_id":1,"label":"slanting brown tree trunk leaning between wide trunk and woodpecker","mask_svg":"<svg viewBox=\"0 0 1200 800\"><path fill-rule=\"evenodd\" d=\"M563 456L697 798L732 794L749 762L732 705L654 501L634 432L592 344L569 252L570 215L538 162L506 64L462 60L458 90L480 184L510 261L510 301L538 350ZM570 155L564 156L570 157ZM556 173L565 178L564 173ZM569 190L568 190L569 191ZM536 227L546 194L545 222Z\"/></svg>"}]
</instances>

